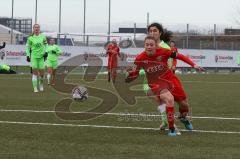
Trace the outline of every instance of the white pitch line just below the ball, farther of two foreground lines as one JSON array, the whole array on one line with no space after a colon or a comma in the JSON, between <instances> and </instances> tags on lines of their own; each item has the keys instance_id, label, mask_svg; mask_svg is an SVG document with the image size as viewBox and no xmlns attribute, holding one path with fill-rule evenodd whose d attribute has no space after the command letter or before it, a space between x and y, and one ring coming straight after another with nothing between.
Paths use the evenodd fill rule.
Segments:
<instances>
[{"instance_id":1,"label":"white pitch line just below the ball, farther of two foreground lines","mask_svg":"<svg viewBox=\"0 0 240 159\"><path fill-rule=\"evenodd\" d=\"M0 109L0 112L24 112L24 113L84 113L84 114L97 114L97 115L112 115L112 116L144 116L144 117L161 117L162 115L153 115L147 113L98 113L98 112L82 112L82 111L72 111L72 112L64 112L64 111L52 111L52 110L9 110L9 109ZM215 119L215 120L240 120L240 118L229 118L229 117L202 117L202 116L189 116L192 119Z\"/></svg>"}]
</instances>

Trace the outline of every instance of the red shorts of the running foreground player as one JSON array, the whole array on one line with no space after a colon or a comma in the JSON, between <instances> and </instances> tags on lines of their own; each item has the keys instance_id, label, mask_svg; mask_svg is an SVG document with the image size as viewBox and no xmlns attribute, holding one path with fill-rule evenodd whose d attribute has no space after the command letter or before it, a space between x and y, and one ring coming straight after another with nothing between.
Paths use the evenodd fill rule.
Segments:
<instances>
[{"instance_id":1,"label":"red shorts of the running foreground player","mask_svg":"<svg viewBox=\"0 0 240 159\"><path fill-rule=\"evenodd\" d=\"M173 88L170 89L170 92L174 96L174 101L182 101L187 99L187 95L183 90L180 80L176 76L172 76L169 80L173 84Z\"/></svg>"}]
</instances>

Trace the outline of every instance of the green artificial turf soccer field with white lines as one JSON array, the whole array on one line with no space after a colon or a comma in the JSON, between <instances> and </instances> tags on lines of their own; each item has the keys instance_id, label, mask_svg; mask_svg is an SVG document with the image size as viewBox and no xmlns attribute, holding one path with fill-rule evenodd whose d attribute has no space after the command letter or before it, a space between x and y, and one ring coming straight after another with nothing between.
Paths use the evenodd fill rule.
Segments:
<instances>
[{"instance_id":1,"label":"green artificial turf soccer field with white lines","mask_svg":"<svg viewBox=\"0 0 240 159\"><path fill-rule=\"evenodd\" d=\"M91 82L71 75L65 81L113 92L104 99L113 104L111 110L89 120L55 112L56 103L70 99L71 92L45 85L44 92L34 94L30 75L0 75L0 158L239 158L240 74L178 76L189 97L194 131L185 131L176 120L182 135L169 137L158 130L161 121L151 100L139 97L129 105L104 75ZM91 91L89 96L73 102L71 110L90 110L103 101Z\"/></svg>"}]
</instances>

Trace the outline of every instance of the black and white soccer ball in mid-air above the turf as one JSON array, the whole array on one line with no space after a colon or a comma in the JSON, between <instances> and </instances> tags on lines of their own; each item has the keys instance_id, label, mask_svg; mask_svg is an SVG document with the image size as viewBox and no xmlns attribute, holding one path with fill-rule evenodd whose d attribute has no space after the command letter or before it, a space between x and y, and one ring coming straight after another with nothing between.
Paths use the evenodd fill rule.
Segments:
<instances>
[{"instance_id":1,"label":"black and white soccer ball in mid-air above the turf","mask_svg":"<svg viewBox=\"0 0 240 159\"><path fill-rule=\"evenodd\" d=\"M88 99L88 91L86 87L77 86L72 90L72 98L77 102L83 102Z\"/></svg>"}]
</instances>

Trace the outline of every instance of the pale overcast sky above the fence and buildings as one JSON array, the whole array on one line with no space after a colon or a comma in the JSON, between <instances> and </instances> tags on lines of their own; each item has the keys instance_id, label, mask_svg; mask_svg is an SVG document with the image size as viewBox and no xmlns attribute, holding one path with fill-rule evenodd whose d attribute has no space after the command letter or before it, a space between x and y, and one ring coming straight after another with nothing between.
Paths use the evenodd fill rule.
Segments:
<instances>
[{"instance_id":1,"label":"pale overcast sky above the fence and buildings","mask_svg":"<svg viewBox=\"0 0 240 159\"><path fill-rule=\"evenodd\" d=\"M62 32L83 32L84 0L62 0ZM109 0L86 0L86 32L107 32ZM11 17L12 0L0 0L0 16ZM4 9L3 9L4 8ZM58 31L59 0L38 0L41 28ZM240 0L111 0L111 31L151 22L181 30L186 24L211 29L214 24L239 27ZM35 20L35 0L14 0L14 17ZM178 28L179 27L179 28ZM239 27L240 28L240 27Z\"/></svg>"}]
</instances>

